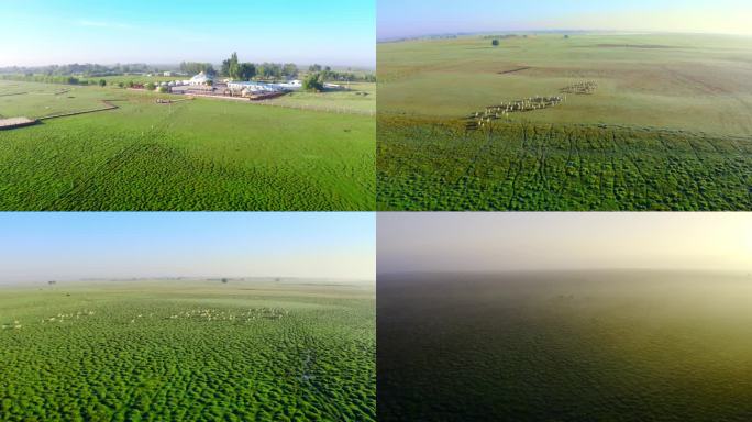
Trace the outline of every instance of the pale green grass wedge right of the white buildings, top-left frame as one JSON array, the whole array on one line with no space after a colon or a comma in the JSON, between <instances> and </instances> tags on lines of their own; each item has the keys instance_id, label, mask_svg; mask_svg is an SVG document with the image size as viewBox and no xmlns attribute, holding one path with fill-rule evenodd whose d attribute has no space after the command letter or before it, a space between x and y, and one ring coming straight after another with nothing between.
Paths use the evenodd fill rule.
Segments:
<instances>
[{"instance_id":1,"label":"pale green grass wedge right of the white buildings, top-left frame","mask_svg":"<svg viewBox=\"0 0 752 422\"><path fill-rule=\"evenodd\" d=\"M376 84L338 82L338 85L350 87L350 90L321 93L291 92L268 102L303 109L331 110L339 113L369 115L376 113Z\"/></svg>"}]
</instances>

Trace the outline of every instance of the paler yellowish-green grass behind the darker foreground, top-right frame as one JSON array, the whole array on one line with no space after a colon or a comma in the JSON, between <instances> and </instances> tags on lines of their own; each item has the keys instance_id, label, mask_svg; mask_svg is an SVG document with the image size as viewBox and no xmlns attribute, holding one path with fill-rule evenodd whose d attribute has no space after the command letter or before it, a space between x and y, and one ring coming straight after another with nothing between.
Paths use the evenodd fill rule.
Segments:
<instances>
[{"instance_id":1,"label":"paler yellowish-green grass behind the darker foreground, top-right frame","mask_svg":"<svg viewBox=\"0 0 752 422\"><path fill-rule=\"evenodd\" d=\"M498 47L482 36L383 43L378 77L379 113L458 119L595 80L591 96L567 95L562 106L512 118L752 135L751 37L554 34L502 38Z\"/></svg>"}]
</instances>

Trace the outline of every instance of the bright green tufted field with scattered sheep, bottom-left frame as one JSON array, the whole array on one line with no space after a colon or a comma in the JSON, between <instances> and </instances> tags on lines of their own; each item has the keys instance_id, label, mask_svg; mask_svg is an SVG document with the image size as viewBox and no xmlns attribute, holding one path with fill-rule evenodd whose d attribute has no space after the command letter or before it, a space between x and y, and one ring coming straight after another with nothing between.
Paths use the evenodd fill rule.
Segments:
<instances>
[{"instance_id":1,"label":"bright green tufted field with scattered sheep, bottom-left frame","mask_svg":"<svg viewBox=\"0 0 752 422\"><path fill-rule=\"evenodd\" d=\"M0 287L0 421L375 420L373 285Z\"/></svg>"}]
</instances>

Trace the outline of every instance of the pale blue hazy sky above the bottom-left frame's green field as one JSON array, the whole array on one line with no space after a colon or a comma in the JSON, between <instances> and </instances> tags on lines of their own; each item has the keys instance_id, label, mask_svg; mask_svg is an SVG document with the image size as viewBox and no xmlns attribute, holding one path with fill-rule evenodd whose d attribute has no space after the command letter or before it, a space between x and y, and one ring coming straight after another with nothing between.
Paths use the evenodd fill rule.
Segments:
<instances>
[{"instance_id":1,"label":"pale blue hazy sky above the bottom-left frame's green field","mask_svg":"<svg viewBox=\"0 0 752 422\"><path fill-rule=\"evenodd\" d=\"M375 278L373 213L0 213L0 284Z\"/></svg>"}]
</instances>

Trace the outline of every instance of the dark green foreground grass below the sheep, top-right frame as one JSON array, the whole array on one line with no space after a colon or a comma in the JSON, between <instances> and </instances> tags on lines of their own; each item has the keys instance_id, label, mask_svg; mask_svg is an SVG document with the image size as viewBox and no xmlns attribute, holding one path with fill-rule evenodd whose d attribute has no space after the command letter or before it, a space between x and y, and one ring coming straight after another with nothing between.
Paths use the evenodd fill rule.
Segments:
<instances>
[{"instance_id":1,"label":"dark green foreground grass below the sheep, top-right frame","mask_svg":"<svg viewBox=\"0 0 752 422\"><path fill-rule=\"evenodd\" d=\"M752 140L379 118L379 210L752 210Z\"/></svg>"}]
</instances>

